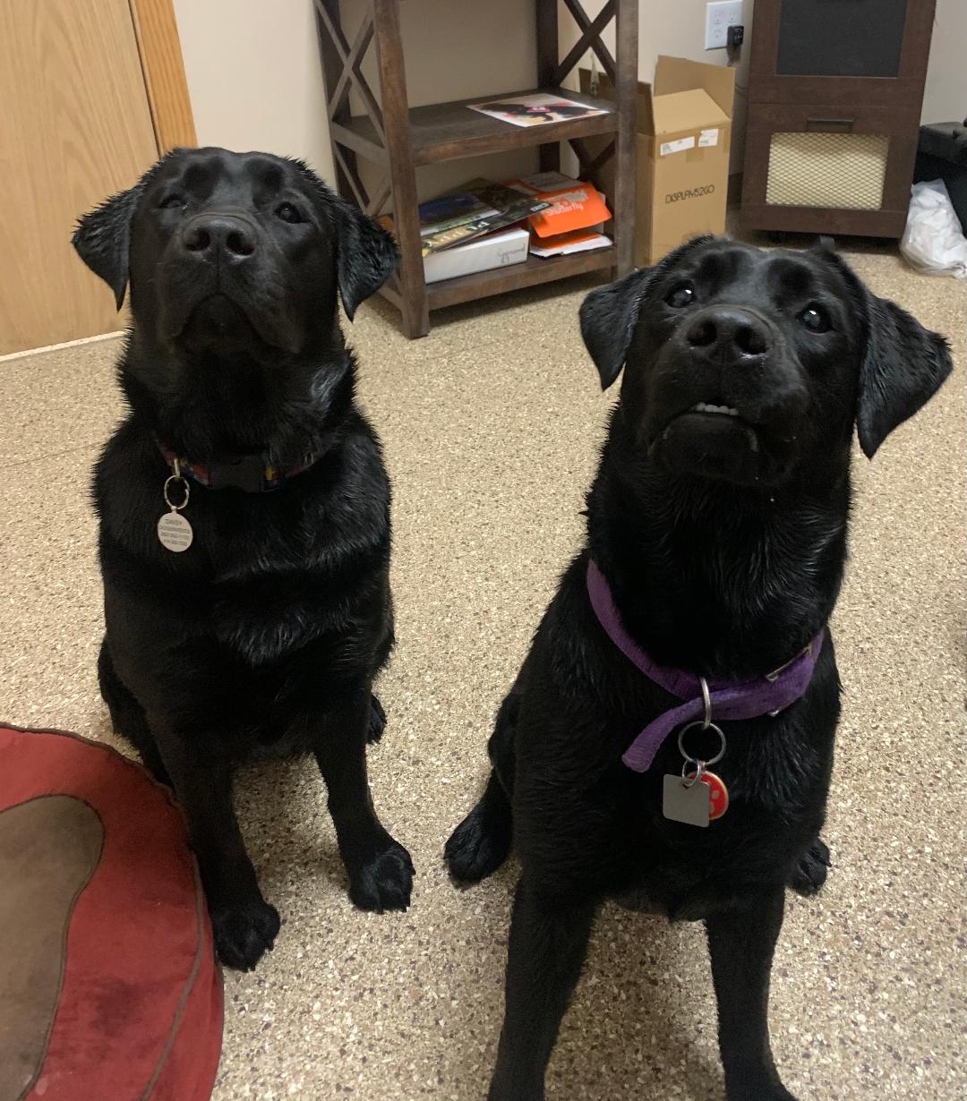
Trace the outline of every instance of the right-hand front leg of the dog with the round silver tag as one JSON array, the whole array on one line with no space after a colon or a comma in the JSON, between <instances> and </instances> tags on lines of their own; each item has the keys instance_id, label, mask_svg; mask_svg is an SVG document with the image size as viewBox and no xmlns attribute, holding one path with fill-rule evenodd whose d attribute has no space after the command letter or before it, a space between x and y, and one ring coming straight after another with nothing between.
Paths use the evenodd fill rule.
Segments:
<instances>
[{"instance_id":1,"label":"right-hand front leg of the dog with the round silver tag","mask_svg":"<svg viewBox=\"0 0 967 1101\"><path fill-rule=\"evenodd\" d=\"M410 853L377 817L366 772L374 697L369 687L326 717L316 742L329 814L349 873L349 897L361 909L405 909L413 886Z\"/></svg>"}]
</instances>

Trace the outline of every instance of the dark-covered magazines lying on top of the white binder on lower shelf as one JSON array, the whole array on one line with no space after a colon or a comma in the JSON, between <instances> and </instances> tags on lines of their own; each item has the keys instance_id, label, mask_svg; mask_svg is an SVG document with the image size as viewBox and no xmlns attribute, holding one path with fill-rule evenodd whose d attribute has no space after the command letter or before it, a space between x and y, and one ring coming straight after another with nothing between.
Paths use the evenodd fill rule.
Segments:
<instances>
[{"instance_id":1,"label":"dark-covered magazines lying on top of the white binder on lower shelf","mask_svg":"<svg viewBox=\"0 0 967 1101\"><path fill-rule=\"evenodd\" d=\"M457 214L452 199L460 199ZM420 206L423 255L455 248L497 229L513 226L550 204L545 199L489 179L471 179L459 193L430 199ZM436 220L434 220L434 217ZM457 220L459 218L459 220Z\"/></svg>"}]
</instances>

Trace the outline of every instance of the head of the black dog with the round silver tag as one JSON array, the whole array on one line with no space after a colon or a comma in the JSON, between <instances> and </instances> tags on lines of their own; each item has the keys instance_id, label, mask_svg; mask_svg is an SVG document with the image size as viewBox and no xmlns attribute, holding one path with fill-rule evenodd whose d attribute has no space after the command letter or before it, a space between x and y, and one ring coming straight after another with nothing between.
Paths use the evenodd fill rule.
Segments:
<instances>
[{"instance_id":1,"label":"head of the black dog with the round silver tag","mask_svg":"<svg viewBox=\"0 0 967 1101\"><path fill-rule=\"evenodd\" d=\"M85 215L74 247L134 325L180 351L297 355L396 264L383 229L298 161L178 149Z\"/></svg>"}]
</instances>

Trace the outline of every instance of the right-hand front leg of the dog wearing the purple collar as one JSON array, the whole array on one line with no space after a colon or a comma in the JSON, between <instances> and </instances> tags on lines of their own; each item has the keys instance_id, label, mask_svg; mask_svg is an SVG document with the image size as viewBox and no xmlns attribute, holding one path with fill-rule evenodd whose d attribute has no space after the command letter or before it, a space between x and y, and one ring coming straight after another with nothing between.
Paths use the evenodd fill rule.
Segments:
<instances>
[{"instance_id":1,"label":"right-hand front leg of the dog wearing the purple collar","mask_svg":"<svg viewBox=\"0 0 967 1101\"><path fill-rule=\"evenodd\" d=\"M769 1043L769 973L783 894L776 887L705 920L729 1101L794 1101L779 1079Z\"/></svg>"}]
</instances>

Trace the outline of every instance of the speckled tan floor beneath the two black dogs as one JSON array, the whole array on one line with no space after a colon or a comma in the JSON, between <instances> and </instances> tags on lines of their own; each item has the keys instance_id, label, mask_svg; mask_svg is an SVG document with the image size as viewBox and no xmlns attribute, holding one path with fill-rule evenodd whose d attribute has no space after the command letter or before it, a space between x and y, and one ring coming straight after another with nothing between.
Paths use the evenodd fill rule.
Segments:
<instances>
[{"instance_id":1,"label":"speckled tan floor beneath the two black dogs","mask_svg":"<svg viewBox=\"0 0 967 1101\"><path fill-rule=\"evenodd\" d=\"M963 1095L965 286L855 257L873 288L949 334L957 375L857 459L836 614L846 706L822 896L791 897L772 1032L802 1099ZM352 909L308 762L259 765L238 804L283 915L253 974L227 972L217 1101L479 1101L501 1014L515 870L455 891L441 847L475 798L493 710L575 547L609 397L580 345L590 283L436 317L408 342L381 303L351 338L395 486L399 648L371 753L383 820L413 852L405 915ZM0 717L111 740L90 466L119 414L117 342L0 362ZM548 1099L720 1099L698 927L604 912Z\"/></svg>"}]
</instances>

